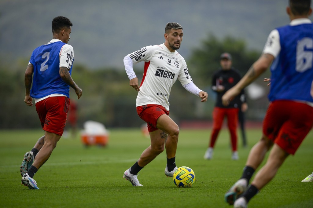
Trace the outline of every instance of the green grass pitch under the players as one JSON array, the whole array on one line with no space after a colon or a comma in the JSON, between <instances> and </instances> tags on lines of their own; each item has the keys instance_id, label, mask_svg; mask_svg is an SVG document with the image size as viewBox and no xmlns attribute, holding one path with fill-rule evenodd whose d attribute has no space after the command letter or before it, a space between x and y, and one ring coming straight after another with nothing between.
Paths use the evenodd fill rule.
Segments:
<instances>
[{"instance_id":1,"label":"green grass pitch under the players","mask_svg":"<svg viewBox=\"0 0 313 208\"><path fill-rule=\"evenodd\" d=\"M241 146L232 161L227 129L223 129L213 160L204 160L210 130L181 129L176 164L188 166L196 175L191 188L177 188L164 175L165 151L140 171L143 187L122 178L141 152L150 145L140 129L110 130L105 148L85 148L79 136L58 142L51 157L35 175L40 190L21 185L19 167L42 130L0 130L0 202L2 207L230 207L224 193L239 179L250 148L259 140L260 129L247 131L249 147ZM313 133L294 157L287 158L278 174L249 203L249 207L312 207L313 183L301 183L313 171Z\"/></svg>"}]
</instances>

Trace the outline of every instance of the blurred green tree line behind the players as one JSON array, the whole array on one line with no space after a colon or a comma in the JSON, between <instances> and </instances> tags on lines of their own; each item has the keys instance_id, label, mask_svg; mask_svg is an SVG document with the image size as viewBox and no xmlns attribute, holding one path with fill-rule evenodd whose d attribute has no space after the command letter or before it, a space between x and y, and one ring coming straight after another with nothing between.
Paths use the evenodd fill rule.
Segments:
<instances>
[{"instance_id":1,"label":"blurred green tree line behind the players","mask_svg":"<svg viewBox=\"0 0 313 208\"><path fill-rule=\"evenodd\" d=\"M206 103L201 103L199 97L187 92L177 81L172 88L169 101L170 116L178 124L184 120L212 120L215 94L211 90L211 79L213 72L220 67L219 57L223 52L233 56L233 66L242 75L260 55L259 51L248 50L244 40L241 39L226 37L219 40L209 35L203 40L201 47L192 50L192 55L187 59L187 66L194 83L208 92L209 98ZM101 122L106 127L140 127L145 123L137 116L137 92L129 86L124 68L90 69L77 62L74 63L72 77L83 90L83 95L77 100L74 90L70 88L70 99L78 105L79 128L82 128L87 120ZM27 63L28 60L19 60L12 66L0 64L2 77L0 95L4 99L0 102L0 129L40 128L35 106L29 107L24 104L24 72ZM140 82L143 64L134 67ZM265 74L264 77L269 77L269 74ZM261 82L264 77L258 81ZM261 84L266 87L266 84ZM259 119L254 116L253 109L261 108L261 112L265 113L266 103L266 97L257 101L248 99L251 112L248 119Z\"/></svg>"}]
</instances>

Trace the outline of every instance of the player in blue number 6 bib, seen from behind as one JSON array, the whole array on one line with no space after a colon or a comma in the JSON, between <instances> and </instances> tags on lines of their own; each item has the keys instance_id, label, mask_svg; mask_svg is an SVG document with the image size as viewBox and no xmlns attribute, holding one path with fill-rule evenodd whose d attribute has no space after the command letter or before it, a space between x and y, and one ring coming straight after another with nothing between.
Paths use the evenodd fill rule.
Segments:
<instances>
[{"instance_id":1,"label":"player in blue number 6 bib, seen from behind","mask_svg":"<svg viewBox=\"0 0 313 208\"><path fill-rule=\"evenodd\" d=\"M264 117L262 138L250 150L241 178L225 194L226 202L234 207L247 207L249 200L274 178L285 159L295 154L312 129L313 25L308 18L312 13L310 5L311 0L289 0L286 11L290 24L269 34L261 57L222 97L223 104L229 104L272 63L271 102ZM254 171L270 149L266 164L249 185Z\"/></svg>"}]
</instances>

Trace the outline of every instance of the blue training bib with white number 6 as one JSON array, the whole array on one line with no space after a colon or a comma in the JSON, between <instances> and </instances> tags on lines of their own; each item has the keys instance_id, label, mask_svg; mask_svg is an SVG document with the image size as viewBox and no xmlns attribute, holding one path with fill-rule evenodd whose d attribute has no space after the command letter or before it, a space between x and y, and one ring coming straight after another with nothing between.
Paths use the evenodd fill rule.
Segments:
<instances>
[{"instance_id":1,"label":"blue training bib with white number 6","mask_svg":"<svg viewBox=\"0 0 313 208\"><path fill-rule=\"evenodd\" d=\"M313 79L313 24L286 25L277 31L281 50L270 68L269 100L313 102L308 93Z\"/></svg>"}]
</instances>

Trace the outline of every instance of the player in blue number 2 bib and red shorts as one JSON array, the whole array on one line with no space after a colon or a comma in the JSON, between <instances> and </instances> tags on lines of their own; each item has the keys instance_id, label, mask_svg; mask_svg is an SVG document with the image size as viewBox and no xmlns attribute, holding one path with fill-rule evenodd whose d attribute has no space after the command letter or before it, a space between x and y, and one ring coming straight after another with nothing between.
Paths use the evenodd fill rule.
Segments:
<instances>
[{"instance_id":1,"label":"player in blue number 2 bib and red shorts","mask_svg":"<svg viewBox=\"0 0 313 208\"><path fill-rule=\"evenodd\" d=\"M44 136L30 152L25 153L20 168L22 184L29 189L39 189L33 176L49 159L63 134L70 104L69 87L75 90L78 99L82 95L82 90L71 77L74 50L67 43L72 25L66 17L54 18L53 39L33 51L25 71L24 102L33 106L34 98L44 130Z\"/></svg>"}]
</instances>

